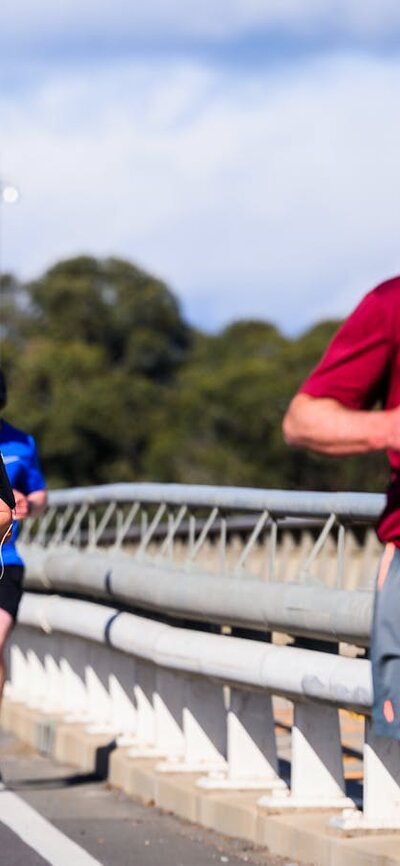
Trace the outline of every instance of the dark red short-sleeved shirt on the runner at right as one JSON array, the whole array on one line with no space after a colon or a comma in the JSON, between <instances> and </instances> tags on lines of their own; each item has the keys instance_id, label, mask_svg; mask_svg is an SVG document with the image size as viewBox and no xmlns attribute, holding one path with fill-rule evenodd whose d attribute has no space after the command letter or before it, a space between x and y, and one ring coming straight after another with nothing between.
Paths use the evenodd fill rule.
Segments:
<instances>
[{"instance_id":1,"label":"dark red short-sleeved shirt on the runner at right","mask_svg":"<svg viewBox=\"0 0 400 866\"><path fill-rule=\"evenodd\" d=\"M400 405L400 277L382 283L342 325L300 391L331 397L349 409ZM387 507L378 536L400 547L400 452L388 451Z\"/></svg>"}]
</instances>

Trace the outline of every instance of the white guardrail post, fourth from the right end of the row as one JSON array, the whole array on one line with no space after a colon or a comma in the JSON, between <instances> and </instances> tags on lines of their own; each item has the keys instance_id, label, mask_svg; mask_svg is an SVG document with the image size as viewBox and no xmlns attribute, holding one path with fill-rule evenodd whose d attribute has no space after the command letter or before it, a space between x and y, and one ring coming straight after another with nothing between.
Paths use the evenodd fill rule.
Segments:
<instances>
[{"instance_id":1,"label":"white guardrail post, fourth from the right end of the row","mask_svg":"<svg viewBox=\"0 0 400 866\"><path fill-rule=\"evenodd\" d=\"M226 766L226 709L220 685L198 677L185 678L182 756L164 761L157 770L201 773Z\"/></svg>"}]
</instances>

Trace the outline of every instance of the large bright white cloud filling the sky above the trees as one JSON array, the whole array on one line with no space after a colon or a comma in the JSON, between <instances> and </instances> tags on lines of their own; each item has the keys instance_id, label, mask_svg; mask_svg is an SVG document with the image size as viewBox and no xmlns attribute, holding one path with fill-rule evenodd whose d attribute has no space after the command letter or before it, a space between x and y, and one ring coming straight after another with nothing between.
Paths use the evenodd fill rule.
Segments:
<instances>
[{"instance_id":1,"label":"large bright white cloud filling the sky above the trees","mask_svg":"<svg viewBox=\"0 0 400 866\"><path fill-rule=\"evenodd\" d=\"M283 76L124 63L0 97L4 262L131 258L217 326L294 330L400 270L400 62L330 57Z\"/></svg>"}]
</instances>

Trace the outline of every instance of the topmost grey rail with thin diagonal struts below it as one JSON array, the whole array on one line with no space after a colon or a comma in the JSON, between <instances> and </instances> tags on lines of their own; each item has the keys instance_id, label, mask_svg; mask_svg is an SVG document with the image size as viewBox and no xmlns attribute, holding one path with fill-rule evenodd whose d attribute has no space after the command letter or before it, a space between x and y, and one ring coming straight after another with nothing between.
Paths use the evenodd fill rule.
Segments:
<instances>
[{"instance_id":1,"label":"topmost grey rail with thin diagonal struts below it","mask_svg":"<svg viewBox=\"0 0 400 866\"><path fill-rule=\"evenodd\" d=\"M21 541L89 550L130 545L137 561L186 571L204 570L206 550L206 570L218 575L336 588L343 586L348 555L354 560L357 553L364 575L356 582L370 586L379 556L372 527L383 504L378 494L110 484L53 491L45 514L24 522ZM301 533L306 543L299 549Z\"/></svg>"}]
</instances>

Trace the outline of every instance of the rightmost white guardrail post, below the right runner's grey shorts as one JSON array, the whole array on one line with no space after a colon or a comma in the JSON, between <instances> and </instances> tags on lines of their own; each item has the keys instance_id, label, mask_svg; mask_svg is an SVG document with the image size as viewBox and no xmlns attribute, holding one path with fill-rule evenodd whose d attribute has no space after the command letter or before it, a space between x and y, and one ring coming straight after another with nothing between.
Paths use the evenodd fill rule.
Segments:
<instances>
[{"instance_id":1,"label":"rightmost white guardrail post, below the right runner's grey shorts","mask_svg":"<svg viewBox=\"0 0 400 866\"><path fill-rule=\"evenodd\" d=\"M344 812L330 823L342 830L400 828L400 742L376 737L365 720L362 812Z\"/></svg>"}]
</instances>

